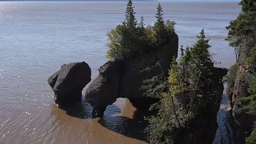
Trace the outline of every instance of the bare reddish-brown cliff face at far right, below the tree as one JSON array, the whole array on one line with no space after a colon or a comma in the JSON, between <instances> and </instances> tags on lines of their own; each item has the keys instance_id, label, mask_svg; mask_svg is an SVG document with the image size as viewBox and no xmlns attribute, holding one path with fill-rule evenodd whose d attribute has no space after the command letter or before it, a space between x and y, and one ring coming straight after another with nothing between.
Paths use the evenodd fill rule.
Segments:
<instances>
[{"instance_id":1,"label":"bare reddish-brown cliff face at far right, below the tree","mask_svg":"<svg viewBox=\"0 0 256 144\"><path fill-rule=\"evenodd\" d=\"M248 84L250 82L249 68L246 63L248 55L246 51L242 51L238 58L238 70L236 72L236 80L234 88L227 88L226 94L228 96L228 105L230 105L230 113L236 123L236 130L238 131L239 138L235 141L236 144L243 143L244 138L250 136L252 133L253 122L256 116L246 114L240 108L246 104L239 101L239 98L250 96L248 93Z\"/></svg>"}]
</instances>

